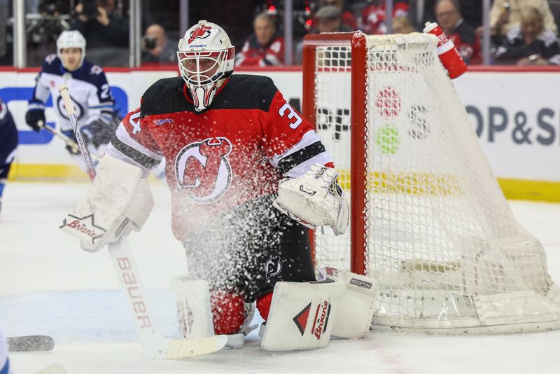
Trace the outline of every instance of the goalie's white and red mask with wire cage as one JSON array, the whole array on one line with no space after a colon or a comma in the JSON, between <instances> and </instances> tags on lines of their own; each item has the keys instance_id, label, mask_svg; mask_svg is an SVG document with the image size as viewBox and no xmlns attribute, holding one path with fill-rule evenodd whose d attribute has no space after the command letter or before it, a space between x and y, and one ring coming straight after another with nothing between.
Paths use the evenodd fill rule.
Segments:
<instances>
[{"instance_id":1,"label":"goalie's white and red mask with wire cage","mask_svg":"<svg viewBox=\"0 0 560 374\"><path fill-rule=\"evenodd\" d=\"M228 34L215 23L199 21L179 41L177 57L195 109L207 109L218 89L233 73L235 47Z\"/></svg>"}]
</instances>

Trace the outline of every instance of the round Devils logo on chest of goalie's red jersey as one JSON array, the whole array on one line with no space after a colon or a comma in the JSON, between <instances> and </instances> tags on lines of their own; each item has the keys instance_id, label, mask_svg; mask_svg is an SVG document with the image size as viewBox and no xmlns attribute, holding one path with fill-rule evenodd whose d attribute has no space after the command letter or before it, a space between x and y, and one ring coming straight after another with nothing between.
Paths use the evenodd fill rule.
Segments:
<instances>
[{"instance_id":1,"label":"round Devils logo on chest of goalie's red jersey","mask_svg":"<svg viewBox=\"0 0 560 374\"><path fill-rule=\"evenodd\" d=\"M209 138L183 147L175 160L179 188L199 204L220 199L232 183L232 167L227 156L231 142L224 137Z\"/></svg>"}]
</instances>

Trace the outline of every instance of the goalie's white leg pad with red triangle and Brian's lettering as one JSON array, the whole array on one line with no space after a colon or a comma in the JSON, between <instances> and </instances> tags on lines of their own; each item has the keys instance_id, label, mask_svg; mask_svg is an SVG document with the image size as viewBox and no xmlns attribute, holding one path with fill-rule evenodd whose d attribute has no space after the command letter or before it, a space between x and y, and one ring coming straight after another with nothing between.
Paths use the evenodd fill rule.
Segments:
<instances>
[{"instance_id":1,"label":"goalie's white leg pad with red triangle and Brian's lettering","mask_svg":"<svg viewBox=\"0 0 560 374\"><path fill-rule=\"evenodd\" d=\"M261 347L267 351L328 345L344 284L277 282Z\"/></svg>"}]
</instances>

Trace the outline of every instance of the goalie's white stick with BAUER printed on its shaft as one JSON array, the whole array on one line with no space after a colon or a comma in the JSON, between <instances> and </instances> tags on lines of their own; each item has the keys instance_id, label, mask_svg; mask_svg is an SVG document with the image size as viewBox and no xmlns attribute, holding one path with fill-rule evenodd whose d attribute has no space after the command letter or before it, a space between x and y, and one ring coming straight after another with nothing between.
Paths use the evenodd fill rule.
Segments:
<instances>
[{"instance_id":1,"label":"goalie's white stick with BAUER printed on its shaft","mask_svg":"<svg viewBox=\"0 0 560 374\"><path fill-rule=\"evenodd\" d=\"M66 85L60 85L58 90L62 96L66 112L76 133L76 141L93 182L95 179L95 169L83 139L68 88ZM217 352L225 346L225 343L228 342L226 335L214 335L208 338L193 340L167 339L160 335L153 325L153 314L151 314L148 308L146 290L140 279L134 258L132 258L132 252L130 247L128 247L127 240L121 237L117 242L107 244L107 247L109 247L109 254L111 255L120 286L125 291L128 305L132 310L134 327L136 328L138 338L154 358L185 359Z\"/></svg>"}]
</instances>

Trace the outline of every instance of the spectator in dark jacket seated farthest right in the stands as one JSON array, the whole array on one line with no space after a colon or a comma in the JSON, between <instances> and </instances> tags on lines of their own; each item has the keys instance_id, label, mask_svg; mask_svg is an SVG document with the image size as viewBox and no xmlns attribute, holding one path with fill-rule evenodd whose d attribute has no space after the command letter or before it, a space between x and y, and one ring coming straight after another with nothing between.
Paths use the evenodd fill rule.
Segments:
<instances>
[{"instance_id":1,"label":"spectator in dark jacket seated farthest right in the stands","mask_svg":"<svg viewBox=\"0 0 560 374\"><path fill-rule=\"evenodd\" d=\"M560 46L554 33L545 29L537 8L521 12L521 26L514 27L496 50L496 61L526 65L560 65Z\"/></svg>"}]
</instances>

